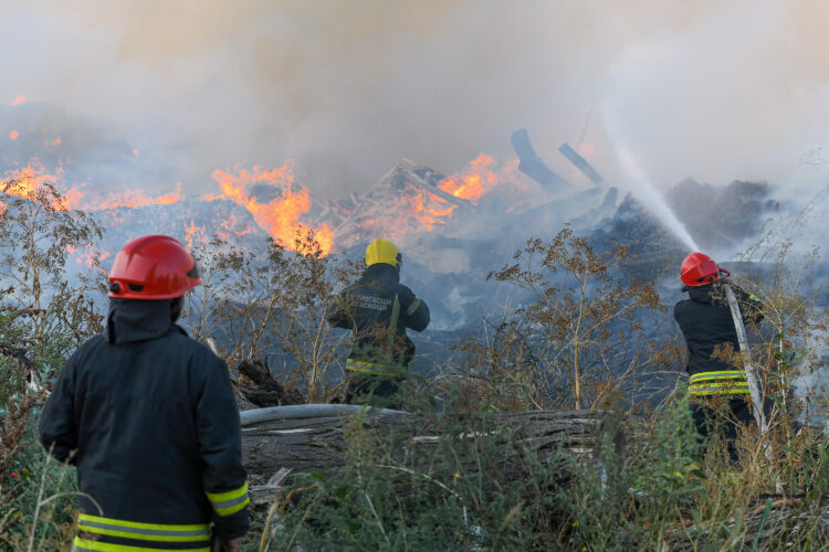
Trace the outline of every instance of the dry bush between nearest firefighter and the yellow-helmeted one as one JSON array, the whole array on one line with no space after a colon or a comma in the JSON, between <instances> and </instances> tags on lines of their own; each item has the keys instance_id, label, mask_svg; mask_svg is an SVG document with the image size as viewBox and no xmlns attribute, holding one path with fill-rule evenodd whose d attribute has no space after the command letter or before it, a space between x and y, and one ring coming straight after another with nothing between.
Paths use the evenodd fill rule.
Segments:
<instances>
[{"instance_id":1,"label":"dry bush between nearest firefighter and the yellow-helmeted one","mask_svg":"<svg viewBox=\"0 0 829 552\"><path fill-rule=\"evenodd\" d=\"M357 268L323 256L311 233L293 245L267 238L253 252L218 237L197 245L204 285L189 296L185 322L196 339L213 339L230 365L270 359L283 384L326 402L344 354L325 312Z\"/></svg>"}]
</instances>

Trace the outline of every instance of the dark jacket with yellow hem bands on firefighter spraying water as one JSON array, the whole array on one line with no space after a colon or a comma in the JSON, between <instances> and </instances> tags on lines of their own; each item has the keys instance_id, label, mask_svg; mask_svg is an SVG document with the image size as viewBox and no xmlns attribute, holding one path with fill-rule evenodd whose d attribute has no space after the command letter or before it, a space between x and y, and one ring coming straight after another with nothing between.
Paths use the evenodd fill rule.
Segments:
<instances>
[{"instance_id":1,"label":"dark jacket with yellow hem bands on firefighter spraying water","mask_svg":"<svg viewBox=\"0 0 829 552\"><path fill-rule=\"evenodd\" d=\"M745 394L748 382L745 371L715 358L717 346L730 343L734 352L739 351L737 330L718 283L689 287L689 298L673 308L673 317L680 325L688 344L688 373L691 375L689 391L692 395ZM759 302L738 287L732 285L739 304L744 323L756 323L763 319Z\"/></svg>"}]
</instances>

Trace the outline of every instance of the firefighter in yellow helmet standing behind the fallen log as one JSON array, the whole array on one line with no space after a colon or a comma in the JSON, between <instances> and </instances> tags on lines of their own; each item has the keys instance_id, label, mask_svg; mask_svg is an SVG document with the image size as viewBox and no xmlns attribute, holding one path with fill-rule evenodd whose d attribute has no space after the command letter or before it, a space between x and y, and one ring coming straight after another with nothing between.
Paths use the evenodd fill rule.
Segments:
<instances>
[{"instance_id":1,"label":"firefighter in yellow helmet standing behind the fallen log","mask_svg":"<svg viewBox=\"0 0 829 552\"><path fill-rule=\"evenodd\" d=\"M328 322L353 331L346 360L346 401L391 406L414 357L407 328L423 331L429 307L400 284L402 256L395 244L375 240L366 248L366 270L339 295Z\"/></svg>"}]
</instances>

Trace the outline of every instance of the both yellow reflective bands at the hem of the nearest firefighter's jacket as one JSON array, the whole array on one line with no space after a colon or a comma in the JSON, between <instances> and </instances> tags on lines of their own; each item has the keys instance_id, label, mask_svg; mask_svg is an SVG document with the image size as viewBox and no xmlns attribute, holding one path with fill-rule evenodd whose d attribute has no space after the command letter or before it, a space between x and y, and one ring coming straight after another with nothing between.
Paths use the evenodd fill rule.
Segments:
<instances>
[{"instance_id":1,"label":"both yellow reflective bands at the hem of the nearest firefighter's jacket","mask_svg":"<svg viewBox=\"0 0 829 552\"><path fill-rule=\"evenodd\" d=\"M78 551L156 551L170 550L174 545L175 550L207 551L210 548L208 523L140 523L82 513L77 518L77 528L88 535L75 537L73 550ZM127 542L112 542L113 539ZM186 548L181 548L182 545Z\"/></svg>"}]
</instances>

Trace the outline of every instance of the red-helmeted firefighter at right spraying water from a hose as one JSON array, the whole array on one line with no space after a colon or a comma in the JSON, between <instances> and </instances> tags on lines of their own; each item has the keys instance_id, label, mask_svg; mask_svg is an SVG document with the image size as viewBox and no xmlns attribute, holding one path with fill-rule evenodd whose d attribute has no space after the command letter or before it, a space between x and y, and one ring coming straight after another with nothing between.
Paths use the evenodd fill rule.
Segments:
<instances>
[{"instance_id":1,"label":"red-helmeted firefighter at right spraying water from a hose","mask_svg":"<svg viewBox=\"0 0 829 552\"><path fill-rule=\"evenodd\" d=\"M684 284L682 290L689 293L689 298L674 306L673 316L688 346L689 394L696 429L707 440L717 425L717 404L727 403L727 416L721 421L723 436L731 459L737 461L734 442L738 424L749 425L754 418L745 369L717 355L717 351L728 346L733 351L739 351L723 286L732 286L744 322L756 323L763 315L757 299L732 284L728 276L728 272L720 268L710 256L691 253L683 261L680 275Z\"/></svg>"}]
</instances>

